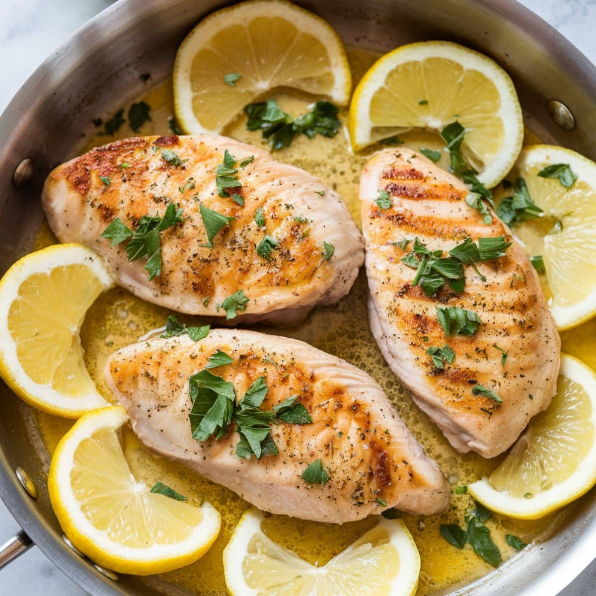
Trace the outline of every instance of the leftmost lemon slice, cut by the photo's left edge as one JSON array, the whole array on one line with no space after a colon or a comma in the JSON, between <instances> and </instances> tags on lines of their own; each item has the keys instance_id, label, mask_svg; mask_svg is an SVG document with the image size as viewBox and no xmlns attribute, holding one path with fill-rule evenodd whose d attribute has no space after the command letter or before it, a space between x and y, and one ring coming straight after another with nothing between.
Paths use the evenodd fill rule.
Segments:
<instances>
[{"instance_id":1,"label":"leftmost lemon slice, cut by the photo's left edge","mask_svg":"<svg viewBox=\"0 0 596 596\"><path fill-rule=\"evenodd\" d=\"M85 312L113 284L101 257L80 244L27 254L0 281L0 375L24 401L78 418L107 404L85 368Z\"/></svg>"}]
</instances>

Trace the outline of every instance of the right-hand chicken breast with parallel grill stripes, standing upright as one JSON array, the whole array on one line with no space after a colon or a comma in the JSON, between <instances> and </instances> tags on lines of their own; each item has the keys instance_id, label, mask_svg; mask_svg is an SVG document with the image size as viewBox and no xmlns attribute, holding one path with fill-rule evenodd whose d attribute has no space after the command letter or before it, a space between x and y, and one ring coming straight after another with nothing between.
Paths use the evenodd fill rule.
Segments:
<instances>
[{"instance_id":1,"label":"right-hand chicken breast with parallel grill stripes, standing upright","mask_svg":"<svg viewBox=\"0 0 596 596\"><path fill-rule=\"evenodd\" d=\"M483 215L465 203L467 195L458 178L406 148L380 151L367 163L360 196L369 314L383 355L417 405L458 451L471 449L490 458L505 451L551 402L560 338L522 247L492 210L492 223L486 225ZM417 267L427 259L416 254L424 252L420 244L437 251L429 262L448 257L466 238L477 244L488 237L504 237L511 245L505 256L477 262L477 271L460 261L463 291L445 279L428 296L420 280L415 283ZM439 320L443 314L472 322L462 333L448 335ZM453 323L450 333L460 327ZM448 348L443 358L437 349L444 346L454 353Z\"/></svg>"}]
</instances>

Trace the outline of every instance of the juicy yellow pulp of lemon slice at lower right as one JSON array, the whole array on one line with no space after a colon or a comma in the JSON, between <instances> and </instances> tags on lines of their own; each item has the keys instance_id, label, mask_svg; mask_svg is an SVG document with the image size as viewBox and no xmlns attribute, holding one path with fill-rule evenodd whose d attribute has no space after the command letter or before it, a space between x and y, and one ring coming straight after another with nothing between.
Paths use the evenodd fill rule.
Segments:
<instances>
[{"instance_id":1,"label":"juicy yellow pulp of lemon slice at lower right","mask_svg":"<svg viewBox=\"0 0 596 596\"><path fill-rule=\"evenodd\" d=\"M594 442L592 403L576 381L559 377L557 396L550 407L533 418L507 459L489 483L517 498L532 498L567 480Z\"/></svg>"}]
</instances>

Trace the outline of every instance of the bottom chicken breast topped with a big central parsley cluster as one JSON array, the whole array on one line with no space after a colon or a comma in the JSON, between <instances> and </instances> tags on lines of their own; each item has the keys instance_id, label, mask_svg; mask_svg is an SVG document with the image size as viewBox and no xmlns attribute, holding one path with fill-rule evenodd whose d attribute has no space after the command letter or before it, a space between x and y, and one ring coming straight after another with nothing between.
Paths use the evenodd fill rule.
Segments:
<instances>
[{"instance_id":1,"label":"bottom chicken breast topped with a big central parsley cluster","mask_svg":"<svg viewBox=\"0 0 596 596\"><path fill-rule=\"evenodd\" d=\"M206 370L218 350L233 361L209 370L233 384L237 403L264 377L268 391L260 410L271 411L297 396L296 403L312 418L306 424L271 421L277 455L239 457L240 435L233 422L219 440L193 438L189 379ZM373 378L306 343L238 330L212 330L199 342L188 336L152 339L114 353L105 379L148 448L261 510L343 523L392 507L431 514L449 505L449 486L439 466ZM328 475L326 483L302 478L317 460Z\"/></svg>"}]
</instances>

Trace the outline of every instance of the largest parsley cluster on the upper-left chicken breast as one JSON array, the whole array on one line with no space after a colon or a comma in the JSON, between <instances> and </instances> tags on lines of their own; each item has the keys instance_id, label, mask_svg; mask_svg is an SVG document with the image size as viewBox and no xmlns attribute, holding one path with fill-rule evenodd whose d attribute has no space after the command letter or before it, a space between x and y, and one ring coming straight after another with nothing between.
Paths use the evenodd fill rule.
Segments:
<instances>
[{"instance_id":1,"label":"largest parsley cluster on the upper-left chicken breast","mask_svg":"<svg viewBox=\"0 0 596 596\"><path fill-rule=\"evenodd\" d=\"M126 256L129 261L141 259L147 256L145 269L149 273L149 280L153 280L162 274L162 241L160 232L182 221L182 209L176 209L175 204L170 203L166 207L163 218L159 215L144 215L139 219L138 226L132 231L123 224L120 218L115 218L110 225L101 233L102 238L110 239L110 246L116 246L132 237L126 247Z\"/></svg>"}]
</instances>

